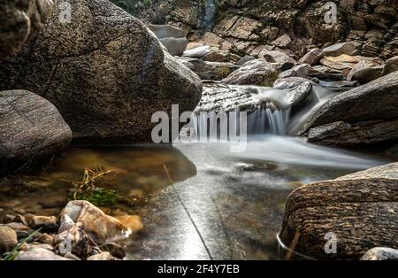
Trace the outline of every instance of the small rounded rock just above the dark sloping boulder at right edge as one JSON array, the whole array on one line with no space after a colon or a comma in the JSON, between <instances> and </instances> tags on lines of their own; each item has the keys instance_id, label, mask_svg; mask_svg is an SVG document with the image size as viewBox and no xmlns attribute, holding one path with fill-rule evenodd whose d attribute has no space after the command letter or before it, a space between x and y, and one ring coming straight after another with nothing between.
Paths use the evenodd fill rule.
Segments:
<instances>
[{"instance_id":1,"label":"small rounded rock just above the dark sloping boulder at right edge","mask_svg":"<svg viewBox=\"0 0 398 278\"><path fill-rule=\"evenodd\" d=\"M374 61L360 61L353 66L352 70L348 73L348 81L359 81L361 84L368 83L381 77L383 73L383 66Z\"/></svg>"}]
</instances>

